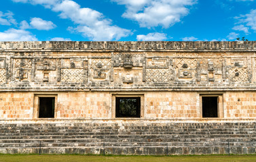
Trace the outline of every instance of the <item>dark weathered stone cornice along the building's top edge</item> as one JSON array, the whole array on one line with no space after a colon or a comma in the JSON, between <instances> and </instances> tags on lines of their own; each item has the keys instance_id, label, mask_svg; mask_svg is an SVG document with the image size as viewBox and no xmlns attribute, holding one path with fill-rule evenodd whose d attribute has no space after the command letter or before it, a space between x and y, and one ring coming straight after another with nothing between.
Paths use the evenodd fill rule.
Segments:
<instances>
[{"instance_id":1,"label":"dark weathered stone cornice along the building's top edge","mask_svg":"<svg viewBox=\"0 0 256 162\"><path fill-rule=\"evenodd\" d=\"M31 41L0 42L0 51L256 51L256 41Z\"/></svg>"}]
</instances>

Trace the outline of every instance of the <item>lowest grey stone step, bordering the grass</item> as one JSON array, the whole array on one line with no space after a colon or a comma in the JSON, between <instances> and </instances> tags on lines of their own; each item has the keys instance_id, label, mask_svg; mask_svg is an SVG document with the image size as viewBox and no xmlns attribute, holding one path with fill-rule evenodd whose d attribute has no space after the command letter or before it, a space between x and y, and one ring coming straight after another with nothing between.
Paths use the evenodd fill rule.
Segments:
<instances>
[{"instance_id":1,"label":"lowest grey stone step, bordering the grass","mask_svg":"<svg viewBox=\"0 0 256 162\"><path fill-rule=\"evenodd\" d=\"M74 146L43 148L0 148L3 154L96 154L96 155L209 155L255 154L253 146Z\"/></svg>"}]
</instances>

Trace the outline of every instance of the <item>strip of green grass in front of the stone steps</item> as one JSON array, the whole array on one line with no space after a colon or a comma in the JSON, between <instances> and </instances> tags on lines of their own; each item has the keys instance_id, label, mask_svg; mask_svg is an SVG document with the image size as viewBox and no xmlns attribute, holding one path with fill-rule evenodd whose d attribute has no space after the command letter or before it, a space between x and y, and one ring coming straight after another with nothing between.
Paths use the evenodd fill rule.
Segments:
<instances>
[{"instance_id":1,"label":"strip of green grass in front of the stone steps","mask_svg":"<svg viewBox=\"0 0 256 162\"><path fill-rule=\"evenodd\" d=\"M78 162L78 161L122 161L122 162L246 162L255 161L256 155L194 155L194 156L94 156L94 155L0 155L0 162Z\"/></svg>"}]
</instances>

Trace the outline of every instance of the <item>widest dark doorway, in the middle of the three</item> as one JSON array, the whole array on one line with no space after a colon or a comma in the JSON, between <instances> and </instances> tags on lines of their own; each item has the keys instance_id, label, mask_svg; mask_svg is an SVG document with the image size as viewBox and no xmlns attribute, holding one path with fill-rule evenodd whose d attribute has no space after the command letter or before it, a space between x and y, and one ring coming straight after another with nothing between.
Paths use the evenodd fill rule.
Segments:
<instances>
[{"instance_id":1,"label":"widest dark doorway, in the middle of the three","mask_svg":"<svg viewBox=\"0 0 256 162\"><path fill-rule=\"evenodd\" d=\"M141 97L116 97L115 117L141 117Z\"/></svg>"}]
</instances>

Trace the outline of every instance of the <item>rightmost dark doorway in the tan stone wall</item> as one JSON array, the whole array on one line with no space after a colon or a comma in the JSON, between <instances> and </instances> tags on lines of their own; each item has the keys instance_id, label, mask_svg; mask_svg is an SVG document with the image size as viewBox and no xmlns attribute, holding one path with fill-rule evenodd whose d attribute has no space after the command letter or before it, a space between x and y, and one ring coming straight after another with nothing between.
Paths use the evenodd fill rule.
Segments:
<instances>
[{"instance_id":1,"label":"rightmost dark doorway in the tan stone wall","mask_svg":"<svg viewBox=\"0 0 256 162\"><path fill-rule=\"evenodd\" d=\"M202 97L202 117L218 117L218 97Z\"/></svg>"}]
</instances>

